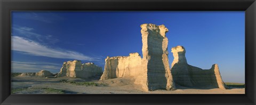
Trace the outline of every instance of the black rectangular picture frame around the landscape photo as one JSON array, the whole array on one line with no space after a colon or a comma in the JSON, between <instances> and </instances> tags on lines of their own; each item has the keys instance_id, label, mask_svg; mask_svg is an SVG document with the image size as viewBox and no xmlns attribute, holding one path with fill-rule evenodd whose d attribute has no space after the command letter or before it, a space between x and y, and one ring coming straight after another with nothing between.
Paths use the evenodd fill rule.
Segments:
<instances>
[{"instance_id":1,"label":"black rectangular picture frame around the landscape photo","mask_svg":"<svg viewBox=\"0 0 256 105\"><path fill-rule=\"evenodd\" d=\"M255 0L0 0L0 104L256 104ZM245 94L11 94L11 11L245 11Z\"/></svg>"}]
</instances>

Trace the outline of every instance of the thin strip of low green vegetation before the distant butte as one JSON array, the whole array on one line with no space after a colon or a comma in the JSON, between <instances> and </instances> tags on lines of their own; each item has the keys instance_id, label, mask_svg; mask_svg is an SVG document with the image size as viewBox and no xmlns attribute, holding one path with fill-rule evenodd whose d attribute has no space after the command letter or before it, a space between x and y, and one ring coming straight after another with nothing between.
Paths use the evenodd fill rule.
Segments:
<instances>
[{"instance_id":1,"label":"thin strip of low green vegetation before the distant butte","mask_svg":"<svg viewBox=\"0 0 256 105\"><path fill-rule=\"evenodd\" d=\"M94 82L73 82L73 81L68 81L67 79L61 79L61 80L58 80L59 82L61 83L70 83L70 84L73 84L73 85L85 85L85 86L106 86L107 84L98 84L98 83L94 83Z\"/></svg>"}]
</instances>

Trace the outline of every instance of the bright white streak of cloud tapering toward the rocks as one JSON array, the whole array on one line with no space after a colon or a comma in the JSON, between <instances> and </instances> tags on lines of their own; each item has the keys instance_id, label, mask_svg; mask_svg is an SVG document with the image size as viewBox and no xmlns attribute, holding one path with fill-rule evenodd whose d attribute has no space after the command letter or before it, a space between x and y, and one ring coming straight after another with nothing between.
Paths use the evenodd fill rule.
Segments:
<instances>
[{"instance_id":1,"label":"bright white streak of cloud tapering toward the rocks","mask_svg":"<svg viewBox=\"0 0 256 105\"><path fill-rule=\"evenodd\" d=\"M100 58L85 56L82 53L78 53L75 51L51 48L19 36L12 36L12 50L20 51L30 55L47 56L50 58L76 59L76 60L87 60L87 61L101 60Z\"/></svg>"}]
</instances>

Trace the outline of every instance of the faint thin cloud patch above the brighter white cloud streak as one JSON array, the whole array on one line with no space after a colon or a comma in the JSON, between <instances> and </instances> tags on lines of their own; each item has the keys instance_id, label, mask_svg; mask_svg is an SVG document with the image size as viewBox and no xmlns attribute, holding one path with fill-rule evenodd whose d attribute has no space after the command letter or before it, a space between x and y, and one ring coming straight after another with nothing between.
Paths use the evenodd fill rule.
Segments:
<instances>
[{"instance_id":1,"label":"faint thin cloud patch above the brighter white cloud streak","mask_svg":"<svg viewBox=\"0 0 256 105\"><path fill-rule=\"evenodd\" d=\"M13 25L13 34L18 36L23 36L27 38L34 38L39 42L47 42L47 44L54 44L59 42L59 39L52 37L52 35L41 35L34 32L34 28L26 27L26 26L19 26Z\"/></svg>"}]
</instances>

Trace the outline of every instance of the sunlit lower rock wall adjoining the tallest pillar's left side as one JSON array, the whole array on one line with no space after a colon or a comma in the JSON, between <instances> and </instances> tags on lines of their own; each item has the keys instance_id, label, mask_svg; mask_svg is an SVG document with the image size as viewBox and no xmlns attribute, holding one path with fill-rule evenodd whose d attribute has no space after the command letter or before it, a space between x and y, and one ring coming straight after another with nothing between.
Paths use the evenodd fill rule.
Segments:
<instances>
[{"instance_id":1,"label":"sunlit lower rock wall adjoining the tallest pillar's left side","mask_svg":"<svg viewBox=\"0 0 256 105\"><path fill-rule=\"evenodd\" d=\"M138 75L141 69L139 53L130 53L129 56L114 56L105 59L105 68L100 80L118 77L132 77Z\"/></svg>"}]
</instances>

